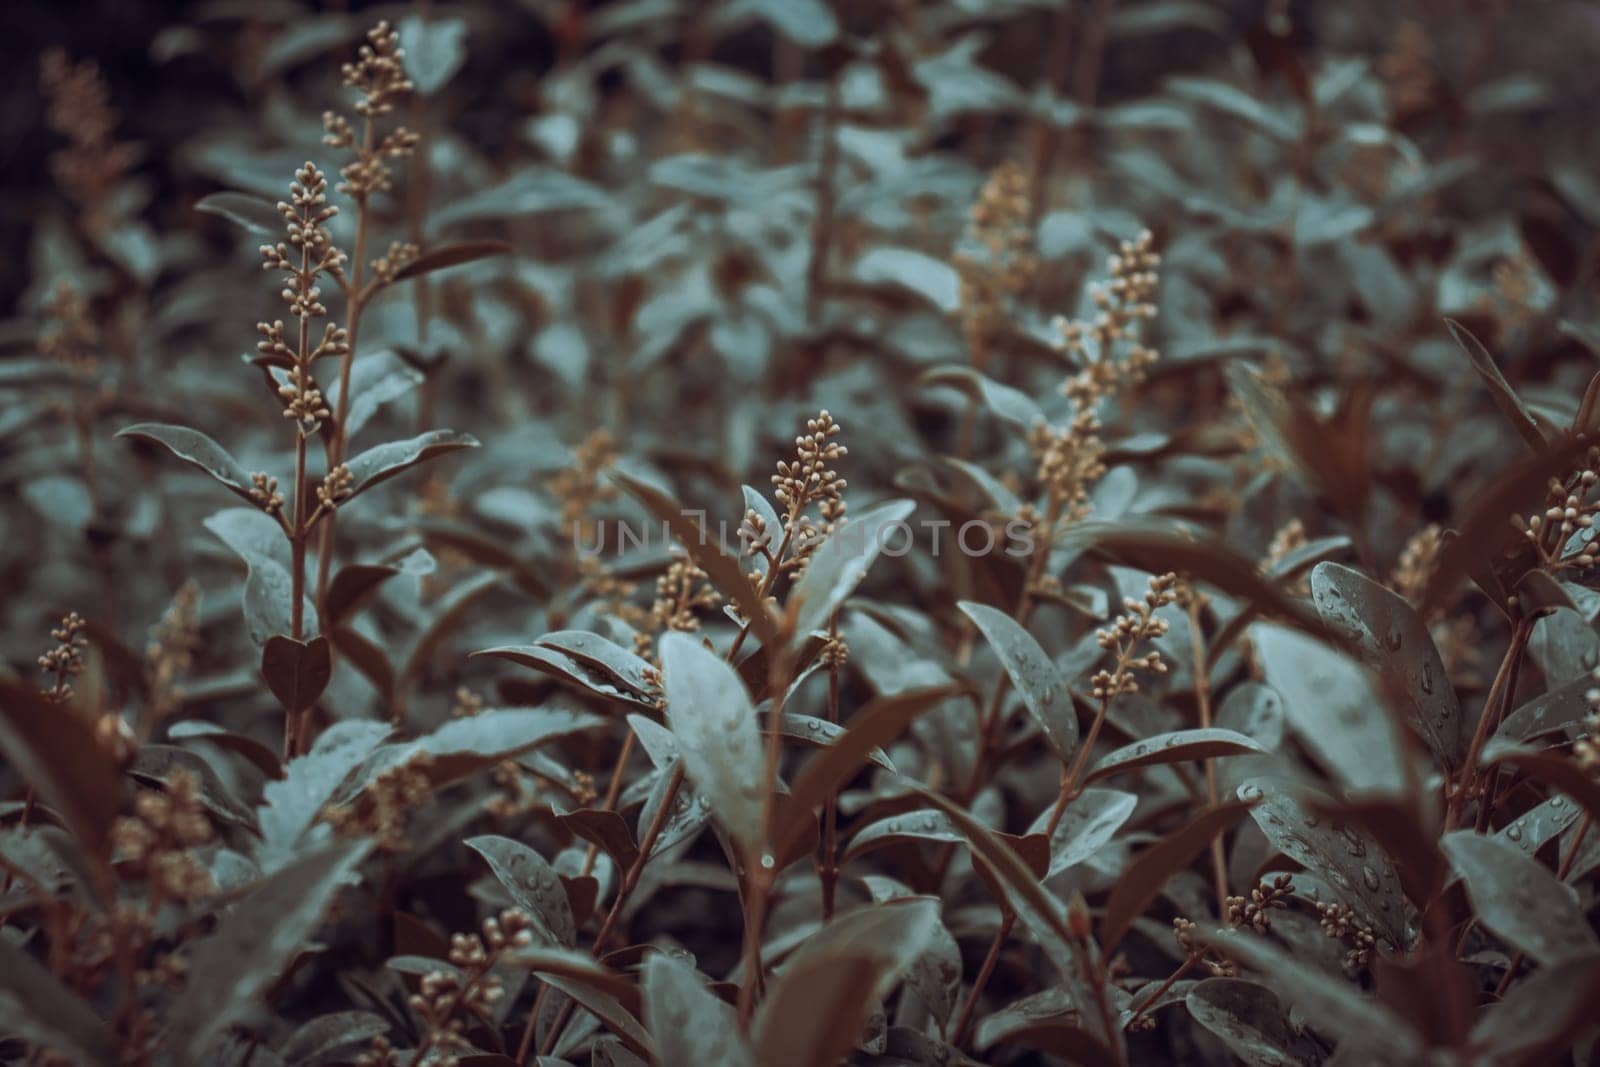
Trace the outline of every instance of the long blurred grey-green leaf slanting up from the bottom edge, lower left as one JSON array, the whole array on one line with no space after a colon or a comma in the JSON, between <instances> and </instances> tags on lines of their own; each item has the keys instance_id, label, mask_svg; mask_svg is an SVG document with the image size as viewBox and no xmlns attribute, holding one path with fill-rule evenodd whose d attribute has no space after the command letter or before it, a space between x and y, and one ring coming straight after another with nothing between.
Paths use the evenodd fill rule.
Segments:
<instances>
[{"instance_id":1,"label":"long blurred grey-green leaf slanting up from the bottom edge, lower left","mask_svg":"<svg viewBox=\"0 0 1600 1067\"><path fill-rule=\"evenodd\" d=\"M322 925L370 845L301 856L259 881L216 931L189 950L189 981L165 1009L166 1040L187 1062L211 1062L211 1043L254 1009Z\"/></svg>"}]
</instances>

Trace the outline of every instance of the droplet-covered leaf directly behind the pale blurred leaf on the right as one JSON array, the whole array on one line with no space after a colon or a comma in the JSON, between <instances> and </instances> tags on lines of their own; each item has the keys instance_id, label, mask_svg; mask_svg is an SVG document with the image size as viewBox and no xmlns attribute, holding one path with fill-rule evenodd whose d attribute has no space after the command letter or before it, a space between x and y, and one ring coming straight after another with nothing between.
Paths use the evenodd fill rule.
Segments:
<instances>
[{"instance_id":1,"label":"droplet-covered leaf directly behind the pale blurred leaf on the right","mask_svg":"<svg viewBox=\"0 0 1600 1067\"><path fill-rule=\"evenodd\" d=\"M1461 766L1461 702L1421 616L1400 595L1360 571L1318 563L1310 595L1323 621L1360 649L1362 662L1395 680L1411 725L1445 768Z\"/></svg>"}]
</instances>

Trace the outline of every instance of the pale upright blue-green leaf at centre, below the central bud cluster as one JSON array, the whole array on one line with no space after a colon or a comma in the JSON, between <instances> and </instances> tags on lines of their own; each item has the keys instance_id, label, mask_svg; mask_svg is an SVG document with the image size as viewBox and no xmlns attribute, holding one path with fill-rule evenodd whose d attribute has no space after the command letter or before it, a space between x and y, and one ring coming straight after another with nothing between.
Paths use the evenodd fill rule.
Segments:
<instances>
[{"instance_id":1,"label":"pale upright blue-green leaf at centre, below the central bud cluster","mask_svg":"<svg viewBox=\"0 0 1600 1067\"><path fill-rule=\"evenodd\" d=\"M661 638L667 726L717 822L755 857L765 795L762 731L738 672L690 633Z\"/></svg>"}]
</instances>

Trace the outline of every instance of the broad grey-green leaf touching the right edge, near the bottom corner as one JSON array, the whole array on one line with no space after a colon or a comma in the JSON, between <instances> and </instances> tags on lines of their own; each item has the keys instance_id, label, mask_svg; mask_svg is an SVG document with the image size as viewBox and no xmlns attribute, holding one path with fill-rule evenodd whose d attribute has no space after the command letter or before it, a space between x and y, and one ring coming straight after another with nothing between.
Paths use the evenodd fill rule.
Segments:
<instances>
[{"instance_id":1,"label":"broad grey-green leaf touching the right edge, near the bottom corner","mask_svg":"<svg viewBox=\"0 0 1600 1067\"><path fill-rule=\"evenodd\" d=\"M1512 947L1539 963L1565 963L1600 949L1573 888L1510 841L1454 830L1440 848L1466 883L1478 921Z\"/></svg>"}]
</instances>

